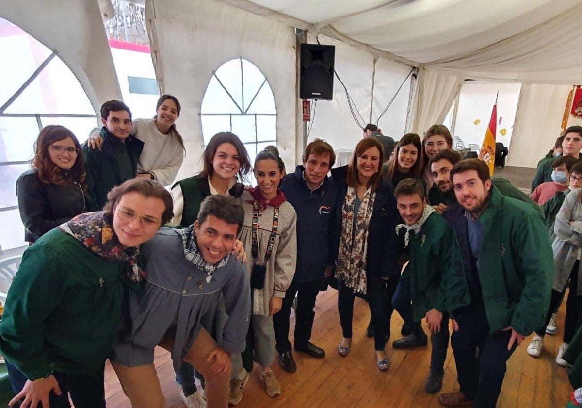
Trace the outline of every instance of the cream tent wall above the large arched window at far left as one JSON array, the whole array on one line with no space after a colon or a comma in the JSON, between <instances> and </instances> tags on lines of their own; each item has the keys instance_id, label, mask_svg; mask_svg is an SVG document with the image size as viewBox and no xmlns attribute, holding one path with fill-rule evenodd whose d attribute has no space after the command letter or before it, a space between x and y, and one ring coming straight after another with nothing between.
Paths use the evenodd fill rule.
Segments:
<instances>
[{"instance_id":1,"label":"cream tent wall above the large arched window at far left","mask_svg":"<svg viewBox=\"0 0 582 408\"><path fill-rule=\"evenodd\" d=\"M2 2L0 16L58 54L79 80L98 117L103 102L121 99L97 1Z\"/></svg>"}]
</instances>

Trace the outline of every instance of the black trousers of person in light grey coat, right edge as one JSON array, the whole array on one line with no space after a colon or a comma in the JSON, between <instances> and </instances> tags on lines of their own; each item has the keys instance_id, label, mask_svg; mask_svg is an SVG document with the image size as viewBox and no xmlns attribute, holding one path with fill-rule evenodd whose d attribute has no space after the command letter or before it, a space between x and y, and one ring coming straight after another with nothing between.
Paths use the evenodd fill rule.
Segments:
<instances>
[{"instance_id":1,"label":"black trousers of person in light grey coat, right edge","mask_svg":"<svg viewBox=\"0 0 582 408\"><path fill-rule=\"evenodd\" d=\"M566 319L564 322L564 343L570 343L574 338L574 335L582 325L582 296L576 295L578 291L578 268L580 261L574 262L574 267L572 272L570 272L570 291L568 292L568 299L566 300ZM548 313L546 315L546 320L544 327L540 327L535 330L535 334L538 336L543 336L545 334L545 328L552 318L552 313L558 310L562 300L564 299L564 292L566 288L560 292L559 290L552 289L552 296L549 300Z\"/></svg>"}]
</instances>

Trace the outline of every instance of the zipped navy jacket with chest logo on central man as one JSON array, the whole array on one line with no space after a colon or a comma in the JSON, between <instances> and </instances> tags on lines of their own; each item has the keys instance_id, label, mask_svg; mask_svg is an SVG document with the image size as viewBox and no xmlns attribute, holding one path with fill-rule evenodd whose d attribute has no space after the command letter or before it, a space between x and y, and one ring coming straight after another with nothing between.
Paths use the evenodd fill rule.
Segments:
<instances>
[{"instance_id":1,"label":"zipped navy jacket with chest logo on central man","mask_svg":"<svg viewBox=\"0 0 582 408\"><path fill-rule=\"evenodd\" d=\"M331 233L335 216L336 189L329 177L311 191L303 178L303 166L286 175L281 190L297 213L297 267L293 282L323 281L325 268L335 257Z\"/></svg>"}]
</instances>

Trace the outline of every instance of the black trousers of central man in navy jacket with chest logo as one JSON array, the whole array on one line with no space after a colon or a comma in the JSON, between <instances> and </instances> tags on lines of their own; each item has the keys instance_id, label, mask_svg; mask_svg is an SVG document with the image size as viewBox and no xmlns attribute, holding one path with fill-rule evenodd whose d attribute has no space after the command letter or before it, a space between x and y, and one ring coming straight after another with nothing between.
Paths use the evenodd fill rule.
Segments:
<instances>
[{"instance_id":1,"label":"black trousers of central man in navy jacket with chest logo","mask_svg":"<svg viewBox=\"0 0 582 408\"><path fill-rule=\"evenodd\" d=\"M315 298L320 292L321 281L297 283L292 282L285 292L283 305L278 313L273 315L276 349L278 353L291 351L289 341L289 317L295 295L297 295L297 310L295 310L295 347L304 349L311 339L311 328L315 318Z\"/></svg>"}]
</instances>

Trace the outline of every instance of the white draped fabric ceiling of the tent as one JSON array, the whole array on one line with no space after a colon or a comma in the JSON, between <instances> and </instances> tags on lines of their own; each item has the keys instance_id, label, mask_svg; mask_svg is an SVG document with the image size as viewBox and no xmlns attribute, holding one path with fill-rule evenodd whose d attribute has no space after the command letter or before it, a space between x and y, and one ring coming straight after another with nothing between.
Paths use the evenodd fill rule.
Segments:
<instances>
[{"instance_id":1,"label":"white draped fabric ceiling of the tent","mask_svg":"<svg viewBox=\"0 0 582 408\"><path fill-rule=\"evenodd\" d=\"M580 83L580 0L220 0L464 77Z\"/></svg>"}]
</instances>

